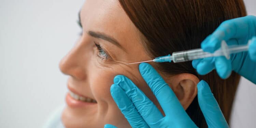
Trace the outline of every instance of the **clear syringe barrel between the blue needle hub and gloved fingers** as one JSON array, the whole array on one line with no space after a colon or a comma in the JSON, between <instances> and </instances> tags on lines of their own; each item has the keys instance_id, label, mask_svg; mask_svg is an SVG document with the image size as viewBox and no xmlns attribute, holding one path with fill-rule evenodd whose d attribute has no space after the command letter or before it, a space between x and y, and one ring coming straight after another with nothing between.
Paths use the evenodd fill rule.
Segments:
<instances>
[{"instance_id":1,"label":"clear syringe barrel between the blue needle hub and gloved fingers","mask_svg":"<svg viewBox=\"0 0 256 128\"><path fill-rule=\"evenodd\" d=\"M187 51L173 52L172 61L177 63L177 62L185 62L185 61L212 57L212 56L214 55L208 52L203 52L201 48L198 48L198 49L187 50Z\"/></svg>"}]
</instances>

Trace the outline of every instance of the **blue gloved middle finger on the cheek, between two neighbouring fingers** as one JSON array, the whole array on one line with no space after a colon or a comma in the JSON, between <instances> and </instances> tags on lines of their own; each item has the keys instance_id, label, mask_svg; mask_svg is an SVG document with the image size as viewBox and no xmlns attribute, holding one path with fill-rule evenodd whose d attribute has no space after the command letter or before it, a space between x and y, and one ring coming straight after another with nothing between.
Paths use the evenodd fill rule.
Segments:
<instances>
[{"instance_id":1,"label":"blue gloved middle finger on the cheek, between two neighbouring fingers","mask_svg":"<svg viewBox=\"0 0 256 128\"><path fill-rule=\"evenodd\" d=\"M156 105L126 76L115 76L114 83L118 84L118 86L125 91L128 98L132 101L148 125L156 123L163 118L163 115L157 109Z\"/></svg>"}]
</instances>

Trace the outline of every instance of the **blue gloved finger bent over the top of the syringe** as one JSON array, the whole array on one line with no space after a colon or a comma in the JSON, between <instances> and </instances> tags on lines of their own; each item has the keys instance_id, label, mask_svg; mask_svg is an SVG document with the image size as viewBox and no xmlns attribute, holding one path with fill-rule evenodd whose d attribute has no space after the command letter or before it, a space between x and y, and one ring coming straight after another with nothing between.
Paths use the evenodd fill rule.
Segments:
<instances>
[{"instance_id":1,"label":"blue gloved finger bent over the top of the syringe","mask_svg":"<svg viewBox=\"0 0 256 128\"><path fill-rule=\"evenodd\" d=\"M256 17L245 16L226 20L211 34L208 41L201 43L201 48L205 52L213 53L221 46L222 40L227 41L231 38L241 38L247 36L252 19L256 20Z\"/></svg>"}]
</instances>

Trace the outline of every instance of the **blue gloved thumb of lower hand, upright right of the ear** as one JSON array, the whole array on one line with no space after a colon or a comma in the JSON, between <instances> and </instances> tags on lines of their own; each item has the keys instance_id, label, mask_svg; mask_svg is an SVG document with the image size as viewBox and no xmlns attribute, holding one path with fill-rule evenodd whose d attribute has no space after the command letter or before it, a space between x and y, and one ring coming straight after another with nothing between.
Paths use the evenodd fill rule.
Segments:
<instances>
[{"instance_id":1,"label":"blue gloved thumb of lower hand, upright right of the ear","mask_svg":"<svg viewBox=\"0 0 256 128\"><path fill-rule=\"evenodd\" d=\"M197 84L197 97L200 109L209 128L228 128L228 123L214 98L209 85L205 81Z\"/></svg>"}]
</instances>

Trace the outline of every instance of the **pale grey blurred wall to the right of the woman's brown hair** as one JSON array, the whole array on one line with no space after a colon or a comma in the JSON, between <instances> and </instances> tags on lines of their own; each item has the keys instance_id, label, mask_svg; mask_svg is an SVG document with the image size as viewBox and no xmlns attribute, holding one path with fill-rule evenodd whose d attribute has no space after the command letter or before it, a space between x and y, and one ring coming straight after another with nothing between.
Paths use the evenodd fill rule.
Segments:
<instances>
[{"instance_id":1,"label":"pale grey blurred wall to the right of the woman's brown hair","mask_svg":"<svg viewBox=\"0 0 256 128\"><path fill-rule=\"evenodd\" d=\"M244 0L247 14L256 16L256 0ZM231 128L256 127L256 85L243 78L238 86L231 114Z\"/></svg>"}]
</instances>

